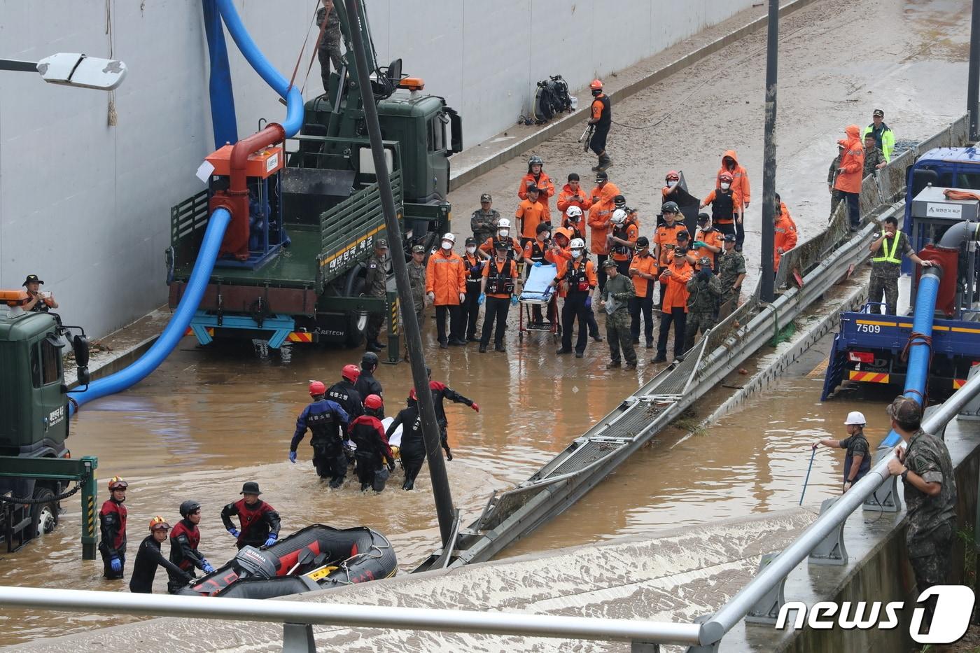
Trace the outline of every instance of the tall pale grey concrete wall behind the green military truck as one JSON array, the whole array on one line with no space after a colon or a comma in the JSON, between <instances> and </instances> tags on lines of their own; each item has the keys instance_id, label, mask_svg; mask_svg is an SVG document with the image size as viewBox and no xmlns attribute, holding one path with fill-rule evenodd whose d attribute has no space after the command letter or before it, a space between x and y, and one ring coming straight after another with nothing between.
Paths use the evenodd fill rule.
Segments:
<instances>
[{"instance_id":1,"label":"tall pale grey concrete wall behind the green military truck","mask_svg":"<svg viewBox=\"0 0 980 653\"><path fill-rule=\"evenodd\" d=\"M312 2L235 4L289 75ZM580 87L751 4L624 0L611 11L598 0L368 0L368 15L379 60L402 57L405 72L461 111L475 144L514 124L539 79L562 74ZM41 276L68 322L96 337L166 301L170 207L202 188L193 173L214 145L200 2L110 0L109 8L112 52L129 68L115 94L117 126L107 125L105 93L0 74L0 287ZM110 54L103 0L0 0L0 17L0 56ZM284 109L228 42L247 134ZM305 95L320 91L315 64Z\"/></svg>"}]
</instances>

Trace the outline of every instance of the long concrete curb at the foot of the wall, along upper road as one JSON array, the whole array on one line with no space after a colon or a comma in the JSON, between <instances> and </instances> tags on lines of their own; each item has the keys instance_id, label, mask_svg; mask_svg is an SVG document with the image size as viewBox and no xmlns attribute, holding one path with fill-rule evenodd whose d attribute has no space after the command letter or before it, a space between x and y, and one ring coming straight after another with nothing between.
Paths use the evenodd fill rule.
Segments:
<instances>
[{"instance_id":1,"label":"long concrete curb at the foot of the wall, along upper road","mask_svg":"<svg viewBox=\"0 0 980 653\"><path fill-rule=\"evenodd\" d=\"M783 18L784 16L788 16L793 12L797 11L798 9L803 9L804 7L808 6L814 1L815 0L791 0L790 2L786 3L785 5L779 8L779 17ZM613 102L618 102L631 95L635 95L636 93L640 92L641 90L649 86L652 86L658 81L662 81L662 79L670 75L673 75L674 73L677 73L678 71L681 71L693 64L698 63L699 61L705 59L711 54L714 54L715 52L725 47L726 45L730 45L731 43L734 43L735 41L738 41L744 38L745 36L748 36L749 34L759 30L760 28L762 28L767 24L768 24L768 17L762 16L750 22L747 25L742 25L741 27L735 29L734 31L731 31L725 34L724 36L716 38L715 40L711 41L711 43L704 45L698 48L697 50L684 55L680 59L677 59L671 62L670 64L667 64L662 69L654 71L650 75L647 75L637 81L634 81L633 83L627 86L623 86L619 90L613 91L612 93L610 93L610 99ZM524 138L521 138L520 140L509 145L507 148L501 150L500 152L497 152L496 154L492 154L488 156L486 159L484 159L483 161L480 161L479 163L469 168L466 168L465 170L462 170L458 175L450 176L449 189L451 191L456 190L460 186L468 183L469 181L472 181L476 177L484 175L490 172L491 170L493 170L494 168L497 168L498 166L507 163L511 159L514 159L516 156L520 155L523 152L526 152L528 149L534 147L535 145L538 145L550 138L557 136L558 134L562 133L563 131L565 131L566 129L572 126L582 126L581 121L585 118L586 114L588 113L588 104L582 103L580 106L582 106L582 108L576 110L574 113L566 114L564 118L562 118L561 120L557 120L549 123L547 126L544 126L543 128L535 131L534 133L529 134Z\"/></svg>"}]
</instances>

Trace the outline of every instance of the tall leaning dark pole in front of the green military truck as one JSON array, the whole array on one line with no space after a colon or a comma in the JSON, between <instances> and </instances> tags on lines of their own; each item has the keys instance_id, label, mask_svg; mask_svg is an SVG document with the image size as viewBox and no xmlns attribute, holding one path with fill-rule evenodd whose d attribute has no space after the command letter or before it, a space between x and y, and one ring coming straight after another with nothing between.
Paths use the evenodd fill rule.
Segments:
<instances>
[{"instance_id":1,"label":"tall leaning dark pole in front of the green military truck","mask_svg":"<svg viewBox=\"0 0 980 653\"><path fill-rule=\"evenodd\" d=\"M371 91L368 71L368 60L365 54L365 42L361 30L364 19L360 12L360 0L346 0L347 16L350 23L351 39L354 45L354 62L357 66L357 86L361 91L361 102L364 104L365 124L368 127L370 150L374 159L374 173L377 176L378 190L381 196L381 209L384 211L384 226L392 246L402 242L402 228L395 214L395 200L391 193L391 179L388 177L388 166L384 160L384 144L381 142L381 126L377 122L377 107L374 105L374 94ZM394 249L392 251L395 251ZM405 257L392 256L395 268L395 283L401 297L412 297L412 284L409 282L409 267ZM442 447L439 443L439 427L435 420L435 405L432 402L432 391L428 385L428 375L425 373L425 358L422 352L422 338L418 330L415 304L410 301L400 302L402 305L402 321L405 323L405 346L409 352L412 365L412 380L416 385L418 408L421 415L422 437L425 440L425 457L428 460L429 474L432 477L432 494L435 496L435 511L439 518L439 532L442 534L443 546L449 544L453 533L453 522L456 511L453 508L453 496L449 489L449 478L446 477L446 464L442 459Z\"/></svg>"}]
</instances>

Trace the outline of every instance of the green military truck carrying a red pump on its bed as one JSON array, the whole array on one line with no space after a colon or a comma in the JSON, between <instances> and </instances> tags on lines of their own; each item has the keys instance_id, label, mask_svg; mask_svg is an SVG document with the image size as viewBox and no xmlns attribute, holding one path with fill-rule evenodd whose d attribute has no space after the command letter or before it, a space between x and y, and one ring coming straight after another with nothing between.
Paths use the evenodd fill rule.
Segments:
<instances>
[{"instance_id":1,"label":"green military truck carrying a red pump on its bed","mask_svg":"<svg viewBox=\"0 0 980 653\"><path fill-rule=\"evenodd\" d=\"M366 261L378 238L392 255L414 244L431 248L449 230L449 157L463 149L459 115L424 82L402 75L396 60L379 68L370 45L369 83L376 100L392 189L405 238L386 233L368 133L353 65L350 22L334 3L347 46L327 92L306 104L298 137L249 158L249 251L221 257L188 332L199 343L217 337L357 346L369 312L397 316L398 295L362 297ZM362 7L363 10L363 7ZM348 64L348 62L350 62ZM209 188L172 208L168 250L170 305L190 277L209 219L209 199L227 185L230 145L208 157ZM390 273L390 269L389 269ZM400 360L397 319L389 320L388 360Z\"/></svg>"}]
</instances>

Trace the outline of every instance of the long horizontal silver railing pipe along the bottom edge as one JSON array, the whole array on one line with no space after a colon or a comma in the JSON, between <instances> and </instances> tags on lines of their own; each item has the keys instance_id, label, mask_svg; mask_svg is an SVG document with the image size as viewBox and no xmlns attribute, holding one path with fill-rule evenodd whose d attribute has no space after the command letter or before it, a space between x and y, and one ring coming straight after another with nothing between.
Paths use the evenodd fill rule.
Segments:
<instances>
[{"instance_id":1,"label":"long horizontal silver railing pipe along the bottom edge","mask_svg":"<svg viewBox=\"0 0 980 653\"><path fill-rule=\"evenodd\" d=\"M280 599L124 594L39 587L0 587L0 605L38 610L279 624L479 632L569 639L635 639L663 644L697 644L700 631L697 624L626 619L344 605Z\"/></svg>"}]
</instances>

